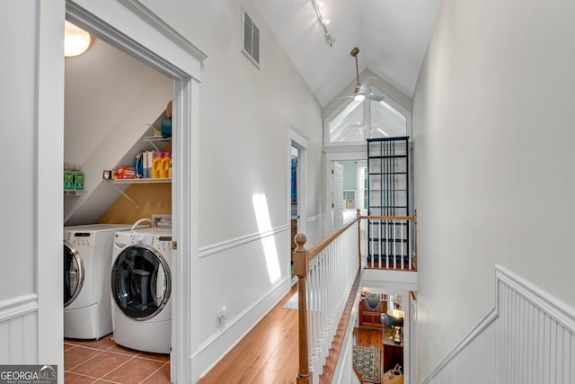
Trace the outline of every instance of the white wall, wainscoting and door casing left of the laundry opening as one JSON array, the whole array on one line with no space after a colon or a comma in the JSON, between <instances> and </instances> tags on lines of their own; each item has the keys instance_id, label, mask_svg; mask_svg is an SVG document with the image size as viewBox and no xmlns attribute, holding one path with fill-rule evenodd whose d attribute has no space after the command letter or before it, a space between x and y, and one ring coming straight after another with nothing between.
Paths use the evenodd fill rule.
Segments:
<instances>
[{"instance_id":1,"label":"white wall, wainscoting and door casing left of the laundry opening","mask_svg":"<svg viewBox=\"0 0 575 384\"><path fill-rule=\"evenodd\" d=\"M63 2L29 1L2 4L0 13L0 362L57 364L59 374L62 312L53 308L62 308L62 285L53 282L62 281L62 186L45 181L62 180L64 76L49 68L64 62L64 11Z\"/></svg>"}]
</instances>

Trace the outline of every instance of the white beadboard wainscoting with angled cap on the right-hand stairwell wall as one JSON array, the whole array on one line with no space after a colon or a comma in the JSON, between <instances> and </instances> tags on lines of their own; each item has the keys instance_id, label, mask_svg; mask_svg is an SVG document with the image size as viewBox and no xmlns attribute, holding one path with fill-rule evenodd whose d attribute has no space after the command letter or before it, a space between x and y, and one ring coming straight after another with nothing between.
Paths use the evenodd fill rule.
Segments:
<instances>
[{"instance_id":1,"label":"white beadboard wainscoting with angled cap on the right-hand stairwell wall","mask_svg":"<svg viewBox=\"0 0 575 384\"><path fill-rule=\"evenodd\" d=\"M426 384L575 383L575 311L496 266L496 308Z\"/></svg>"}]
</instances>

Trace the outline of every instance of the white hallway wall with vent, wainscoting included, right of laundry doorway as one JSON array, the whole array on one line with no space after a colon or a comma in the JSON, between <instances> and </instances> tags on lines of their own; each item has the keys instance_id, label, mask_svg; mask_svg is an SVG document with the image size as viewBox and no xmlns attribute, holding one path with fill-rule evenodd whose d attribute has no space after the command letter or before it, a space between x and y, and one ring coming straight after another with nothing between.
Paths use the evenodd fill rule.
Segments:
<instances>
[{"instance_id":1,"label":"white hallway wall with vent, wainscoting included, right of laundry doorway","mask_svg":"<svg viewBox=\"0 0 575 384\"><path fill-rule=\"evenodd\" d=\"M200 85L199 258L192 261L197 375L288 291L288 129L309 138L306 213L316 217L323 193L322 110L252 1L142 3L208 55ZM241 52L242 4L260 28L260 69ZM261 212L254 195L265 196ZM260 213L269 219L264 226ZM270 263L279 265L279 276L270 274ZM229 317L218 328L222 306Z\"/></svg>"}]
</instances>

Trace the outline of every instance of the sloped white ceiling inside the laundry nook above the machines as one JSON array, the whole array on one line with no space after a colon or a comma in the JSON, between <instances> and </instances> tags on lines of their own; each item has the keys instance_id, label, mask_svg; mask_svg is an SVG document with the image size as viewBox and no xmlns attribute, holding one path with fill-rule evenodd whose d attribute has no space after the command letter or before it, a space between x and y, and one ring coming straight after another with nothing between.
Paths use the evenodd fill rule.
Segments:
<instances>
[{"instance_id":1,"label":"sloped white ceiling inside the laundry nook above the machines","mask_svg":"<svg viewBox=\"0 0 575 384\"><path fill-rule=\"evenodd\" d=\"M85 176L84 193L65 197L64 223L91 224L123 199L102 171L131 165L139 151L152 148L141 138L172 99L173 81L100 39L66 58L65 76L64 160Z\"/></svg>"}]
</instances>

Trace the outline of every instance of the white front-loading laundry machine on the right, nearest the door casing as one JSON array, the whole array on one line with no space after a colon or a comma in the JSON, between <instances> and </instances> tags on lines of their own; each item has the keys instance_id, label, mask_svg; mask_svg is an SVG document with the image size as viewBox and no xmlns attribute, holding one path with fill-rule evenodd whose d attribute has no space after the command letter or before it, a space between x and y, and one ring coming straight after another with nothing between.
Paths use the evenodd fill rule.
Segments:
<instances>
[{"instance_id":1,"label":"white front-loading laundry machine on the right, nearest the door casing","mask_svg":"<svg viewBox=\"0 0 575 384\"><path fill-rule=\"evenodd\" d=\"M115 235L111 267L114 341L151 353L172 345L172 228Z\"/></svg>"}]
</instances>

